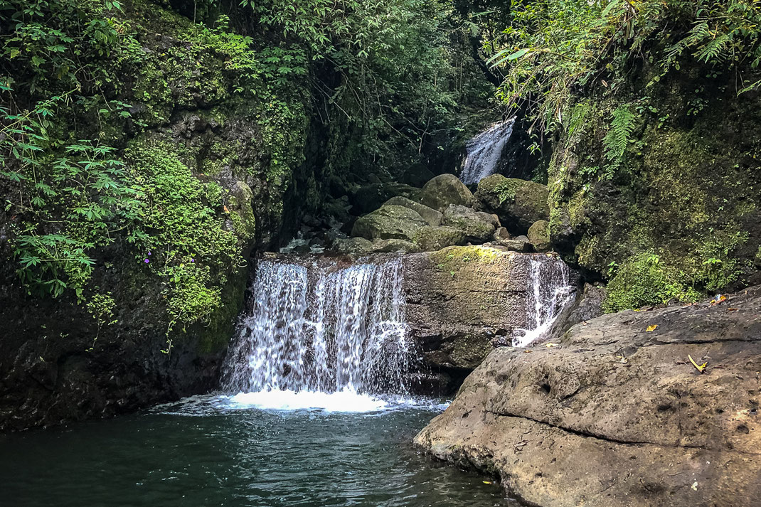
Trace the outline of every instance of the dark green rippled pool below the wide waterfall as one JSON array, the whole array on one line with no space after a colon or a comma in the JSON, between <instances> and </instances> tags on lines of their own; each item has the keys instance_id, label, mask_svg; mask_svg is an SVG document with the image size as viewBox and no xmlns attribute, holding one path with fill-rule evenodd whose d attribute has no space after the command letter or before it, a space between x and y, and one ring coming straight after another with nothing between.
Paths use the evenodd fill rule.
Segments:
<instances>
[{"instance_id":1,"label":"dark green rippled pool below the wide waterfall","mask_svg":"<svg viewBox=\"0 0 761 507\"><path fill-rule=\"evenodd\" d=\"M499 486L412 448L441 410L231 410L201 397L0 436L0 505L515 507Z\"/></svg>"}]
</instances>

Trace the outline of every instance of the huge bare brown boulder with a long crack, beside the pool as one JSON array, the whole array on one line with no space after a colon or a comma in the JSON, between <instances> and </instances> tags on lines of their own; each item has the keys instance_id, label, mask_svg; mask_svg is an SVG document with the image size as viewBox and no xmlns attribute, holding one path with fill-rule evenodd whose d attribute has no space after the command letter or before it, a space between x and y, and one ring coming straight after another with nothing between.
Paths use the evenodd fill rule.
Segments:
<instances>
[{"instance_id":1,"label":"huge bare brown boulder with a long crack, beside the pool","mask_svg":"<svg viewBox=\"0 0 761 507\"><path fill-rule=\"evenodd\" d=\"M497 471L531 505L750 507L758 371L759 287L719 305L610 314L557 346L496 349L416 443Z\"/></svg>"}]
</instances>

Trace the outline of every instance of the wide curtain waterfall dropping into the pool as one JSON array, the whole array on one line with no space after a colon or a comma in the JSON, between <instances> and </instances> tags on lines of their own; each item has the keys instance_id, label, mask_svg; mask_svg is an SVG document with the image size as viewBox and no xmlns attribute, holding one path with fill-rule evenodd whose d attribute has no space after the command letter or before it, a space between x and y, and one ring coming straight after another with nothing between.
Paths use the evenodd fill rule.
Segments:
<instances>
[{"instance_id":1,"label":"wide curtain waterfall dropping into the pool","mask_svg":"<svg viewBox=\"0 0 761 507\"><path fill-rule=\"evenodd\" d=\"M224 365L228 392L401 393L410 368L398 258L261 260Z\"/></svg>"}]
</instances>

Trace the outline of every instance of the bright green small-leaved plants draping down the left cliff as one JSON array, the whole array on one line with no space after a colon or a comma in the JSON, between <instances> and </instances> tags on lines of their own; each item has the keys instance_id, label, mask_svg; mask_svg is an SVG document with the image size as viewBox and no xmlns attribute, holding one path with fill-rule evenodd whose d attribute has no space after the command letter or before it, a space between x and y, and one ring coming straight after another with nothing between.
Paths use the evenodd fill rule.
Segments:
<instances>
[{"instance_id":1,"label":"bright green small-leaved plants draping down the left cliff","mask_svg":"<svg viewBox=\"0 0 761 507\"><path fill-rule=\"evenodd\" d=\"M164 281L170 328L208 319L221 305L228 273L240 263L237 237L221 220L220 188L194 177L165 143L135 143L126 159L141 193L134 262Z\"/></svg>"}]
</instances>

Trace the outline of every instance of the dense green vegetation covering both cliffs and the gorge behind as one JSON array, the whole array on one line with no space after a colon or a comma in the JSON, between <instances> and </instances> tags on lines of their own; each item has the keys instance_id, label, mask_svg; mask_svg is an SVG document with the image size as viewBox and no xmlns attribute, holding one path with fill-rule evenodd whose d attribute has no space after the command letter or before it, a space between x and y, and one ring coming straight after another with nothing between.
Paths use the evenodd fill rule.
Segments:
<instances>
[{"instance_id":1,"label":"dense green vegetation covering both cliffs and the gorge behind","mask_svg":"<svg viewBox=\"0 0 761 507\"><path fill-rule=\"evenodd\" d=\"M2 275L104 323L134 297L114 277L149 280L167 330L209 323L284 202L327 223L441 169L497 97L610 310L747 283L759 22L756 0L0 0Z\"/></svg>"}]
</instances>

